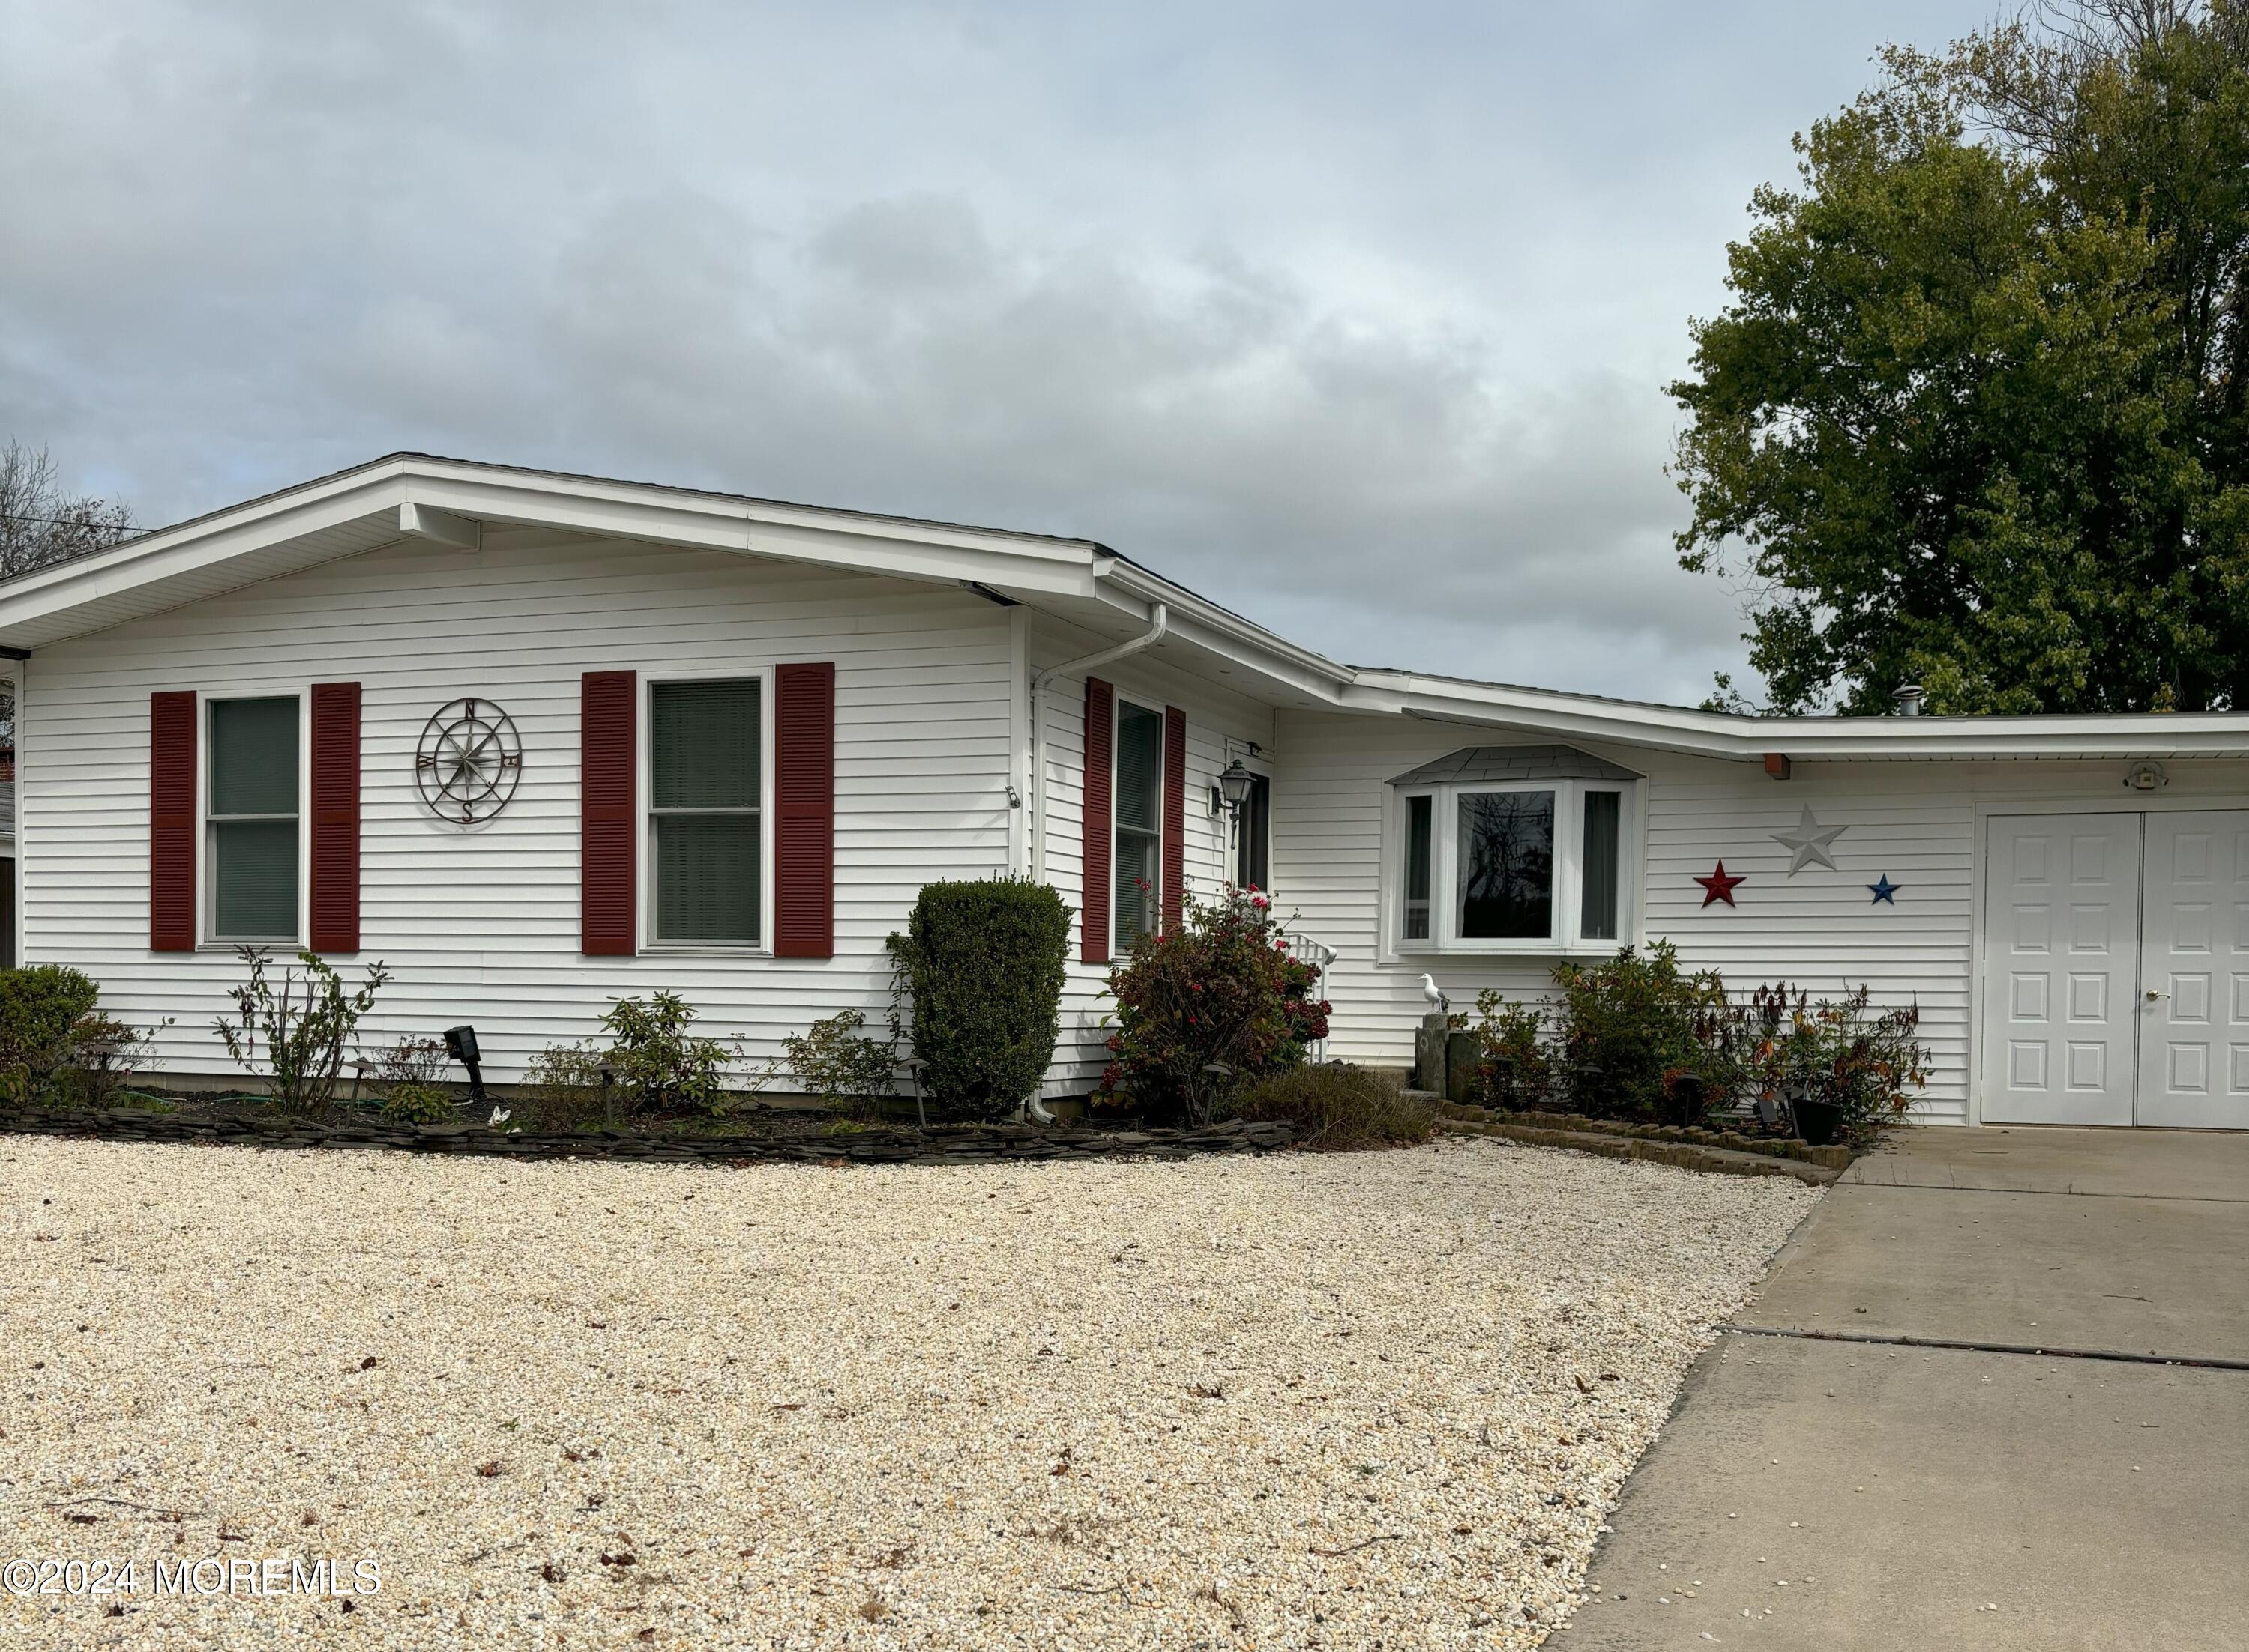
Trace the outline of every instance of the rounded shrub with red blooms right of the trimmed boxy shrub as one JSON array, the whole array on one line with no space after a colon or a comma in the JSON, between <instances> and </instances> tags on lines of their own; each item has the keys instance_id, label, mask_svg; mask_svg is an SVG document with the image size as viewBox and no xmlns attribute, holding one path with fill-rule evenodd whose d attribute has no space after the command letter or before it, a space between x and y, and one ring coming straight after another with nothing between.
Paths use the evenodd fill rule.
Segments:
<instances>
[{"instance_id":1,"label":"rounded shrub with red blooms right of the trimmed boxy shrub","mask_svg":"<svg viewBox=\"0 0 2249 1652\"><path fill-rule=\"evenodd\" d=\"M1176 931L1145 937L1109 971L1116 1032L1102 1090L1151 1119L1208 1124L1237 1086L1298 1065L1327 1036L1318 980L1289 957L1262 890L1187 895ZM1228 1072L1205 1072L1212 1063Z\"/></svg>"}]
</instances>

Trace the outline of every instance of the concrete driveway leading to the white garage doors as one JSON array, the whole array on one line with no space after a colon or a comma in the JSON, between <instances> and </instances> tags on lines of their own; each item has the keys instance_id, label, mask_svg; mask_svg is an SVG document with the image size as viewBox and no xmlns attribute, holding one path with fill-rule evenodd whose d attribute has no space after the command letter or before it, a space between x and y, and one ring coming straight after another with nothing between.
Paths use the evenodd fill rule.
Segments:
<instances>
[{"instance_id":1,"label":"concrete driveway leading to the white garage doors","mask_svg":"<svg viewBox=\"0 0 2249 1652\"><path fill-rule=\"evenodd\" d=\"M1550 1645L2249 1648L2249 1135L1860 1160L1613 1524Z\"/></svg>"}]
</instances>

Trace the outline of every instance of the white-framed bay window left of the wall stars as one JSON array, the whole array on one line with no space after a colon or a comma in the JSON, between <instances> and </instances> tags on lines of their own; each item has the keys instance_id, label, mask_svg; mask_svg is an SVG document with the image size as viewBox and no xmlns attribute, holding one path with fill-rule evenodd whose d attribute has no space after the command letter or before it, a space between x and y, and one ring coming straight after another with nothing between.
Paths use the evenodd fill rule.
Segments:
<instances>
[{"instance_id":1,"label":"white-framed bay window left of the wall stars","mask_svg":"<svg viewBox=\"0 0 2249 1652\"><path fill-rule=\"evenodd\" d=\"M1397 787L1392 827L1401 953L1613 951L1637 924L1637 782Z\"/></svg>"}]
</instances>

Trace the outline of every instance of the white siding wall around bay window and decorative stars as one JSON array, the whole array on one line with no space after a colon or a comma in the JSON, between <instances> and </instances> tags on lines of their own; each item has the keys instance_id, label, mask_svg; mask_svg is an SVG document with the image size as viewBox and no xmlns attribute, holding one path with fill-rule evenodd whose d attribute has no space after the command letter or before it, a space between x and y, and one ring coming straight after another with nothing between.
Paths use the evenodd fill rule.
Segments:
<instances>
[{"instance_id":1,"label":"white siding wall around bay window and decorative stars","mask_svg":"<svg viewBox=\"0 0 2249 1652\"><path fill-rule=\"evenodd\" d=\"M1388 780L1466 744L1509 744L1505 730L1282 712L1275 739L1273 881L1289 890L1304 933L1340 948L1327 984L1331 1056L1408 1065L1426 1007L1424 969L1455 1005L1473 1005L1484 987L1514 998L1554 991L1550 955L1388 955L1376 946L1385 926L1397 933L1408 899L1403 809L1385 827L1385 809L1399 807ZM1547 739L1523 735L1520 744ZM2069 807L2112 796L2121 778L2114 762L1799 762L1777 784L1747 762L1579 744L1646 775L1640 919L1637 928L1626 922L1619 944L1667 937L1687 966L1716 966L1741 991L1788 980L1817 998L1867 982L1876 1005L1918 1002L1934 1059L1930 1119L1968 1117L1977 807ZM2240 764L2168 769L2170 805L2240 798ZM1833 843L1837 872L1788 874L1790 852L1772 834L1795 829L1806 805L1822 825L1849 827ZM1385 843L1399 845L1394 868L1383 863ZM1702 904L1693 879L1718 861L1745 879L1736 906ZM1896 906L1864 888L1885 874L1898 886Z\"/></svg>"}]
</instances>

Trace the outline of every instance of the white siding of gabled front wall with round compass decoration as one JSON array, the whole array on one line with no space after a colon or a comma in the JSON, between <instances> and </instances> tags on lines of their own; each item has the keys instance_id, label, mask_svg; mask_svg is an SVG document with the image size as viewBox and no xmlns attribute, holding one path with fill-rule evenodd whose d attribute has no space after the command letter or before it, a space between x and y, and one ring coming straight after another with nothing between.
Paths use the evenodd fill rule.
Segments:
<instances>
[{"instance_id":1,"label":"white siding of gabled front wall with round compass decoration","mask_svg":"<svg viewBox=\"0 0 2249 1652\"><path fill-rule=\"evenodd\" d=\"M371 960L396 975L367 1043L470 1020L488 1077L513 1081L614 998L672 989L704 1032L771 1056L839 1009L882 1018L884 937L924 881L1008 868L1008 609L954 587L493 528L481 553L394 544L56 643L25 701L27 955L83 966L135 1025L175 1018L164 1077L238 1079L209 1025L241 964L148 951L148 695L360 681L362 946L335 962L351 982ZM837 957L580 955L580 672L783 661L837 665ZM461 695L524 742L513 802L475 827L436 820L414 775L423 724Z\"/></svg>"}]
</instances>

